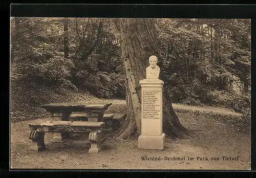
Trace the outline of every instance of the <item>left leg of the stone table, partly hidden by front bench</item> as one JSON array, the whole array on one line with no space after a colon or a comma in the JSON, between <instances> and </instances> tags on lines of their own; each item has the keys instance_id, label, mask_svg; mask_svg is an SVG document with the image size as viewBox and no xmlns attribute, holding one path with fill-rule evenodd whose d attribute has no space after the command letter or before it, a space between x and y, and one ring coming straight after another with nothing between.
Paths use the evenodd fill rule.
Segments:
<instances>
[{"instance_id":1,"label":"left leg of the stone table, partly hidden by front bench","mask_svg":"<svg viewBox=\"0 0 256 178\"><path fill-rule=\"evenodd\" d=\"M69 120L70 114L69 113L53 113L51 115L54 121L67 121ZM51 142L65 142L70 139L70 133L68 132L61 132L61 133L53 133L53 138Z\"/></svg>"}]
</instances>

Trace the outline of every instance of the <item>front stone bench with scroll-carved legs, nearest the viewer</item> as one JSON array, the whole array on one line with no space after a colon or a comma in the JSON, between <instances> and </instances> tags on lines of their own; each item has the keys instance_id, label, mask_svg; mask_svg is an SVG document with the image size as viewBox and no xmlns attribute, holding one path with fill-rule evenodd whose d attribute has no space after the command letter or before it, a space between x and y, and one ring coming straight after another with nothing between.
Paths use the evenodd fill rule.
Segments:
<instances>
[{"instance_id":1,"label":"front stone bench with scroll-carved legs, nearest the viewer","mask_svg":"<svg viewBox=\"0 0 256 178\"><path fill-rule=\"evenodd\" d=\"M45 145L45 132L55 133L90 133L89 141L91 148L89 153L98 153L101 149L101 143L104 138L102 130L104 122L84 122L84 121L40 121L29 124L30 135L32 140L32 150L43 150Z\"/></svg>"}]
</instances>

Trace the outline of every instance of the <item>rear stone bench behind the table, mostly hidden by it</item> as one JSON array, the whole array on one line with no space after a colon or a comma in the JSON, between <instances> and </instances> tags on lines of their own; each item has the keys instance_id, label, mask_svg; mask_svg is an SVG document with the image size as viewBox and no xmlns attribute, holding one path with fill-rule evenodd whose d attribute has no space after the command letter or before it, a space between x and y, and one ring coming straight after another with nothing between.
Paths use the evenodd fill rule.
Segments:
<instances>
[{"instance_id":1,"label":"rear stone bench behind the table, mostly hidden by it","mask_svg":"<svg viewBox=\"0 0 256 178\"><path fill-rule=\"evenodd\" d=\"M103 121L105 122L105 128L103 128L104 131L112 130L111 126L112 126L113 117L114 117L113 114L104 114L103 115ZM97 122L97 118L90 118L90 115L87 113L72 113L70 115L70 120Z\"/></svg>"}]
</instances>

